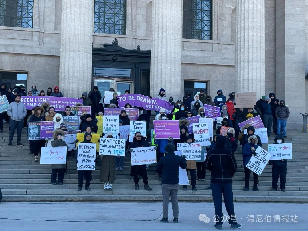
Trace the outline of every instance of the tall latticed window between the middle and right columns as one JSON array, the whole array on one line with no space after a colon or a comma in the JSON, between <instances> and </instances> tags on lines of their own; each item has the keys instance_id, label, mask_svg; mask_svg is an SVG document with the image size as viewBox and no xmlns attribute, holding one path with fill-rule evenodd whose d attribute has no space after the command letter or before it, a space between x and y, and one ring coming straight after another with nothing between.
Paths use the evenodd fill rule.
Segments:
<instances>
[{"instance_id":1,"label":"tall latticed window between the middle and right columns","mask_svg":"<svg viewBox=\"0 0 308 231\"><path fill-rule=\"evenodd\" d=\"M183 39L212 39L212 0L183 0Z\"/></svg>"}]
</instances>

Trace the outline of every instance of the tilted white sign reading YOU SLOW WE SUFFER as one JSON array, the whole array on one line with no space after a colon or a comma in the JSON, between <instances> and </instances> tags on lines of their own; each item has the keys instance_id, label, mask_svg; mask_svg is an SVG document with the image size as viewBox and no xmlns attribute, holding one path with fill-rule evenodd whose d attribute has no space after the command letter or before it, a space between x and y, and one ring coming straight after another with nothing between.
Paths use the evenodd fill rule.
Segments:
<instances>
[{"instance_id":1,"label":"tilted white sign reading YOU SLOW WE SUFFER","mask_svg":"<svg viewBox=\"0 0 308 231\"><path fill-rule=\"evenodd\" d=\"M249 168L251 171L257 173L259 176L261 175L265 165L270 160L271 154L266 152L263 148L258 147L255 150L257 153L256 156L251 156L248 161L246 168Z\"/></svg>"}]
</instances>

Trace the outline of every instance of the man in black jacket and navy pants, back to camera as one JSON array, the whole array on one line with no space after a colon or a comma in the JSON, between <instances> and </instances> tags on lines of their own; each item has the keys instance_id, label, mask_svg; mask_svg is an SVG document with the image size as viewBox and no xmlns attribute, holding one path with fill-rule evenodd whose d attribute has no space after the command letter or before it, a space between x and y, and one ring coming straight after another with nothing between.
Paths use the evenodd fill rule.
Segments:
<instances>
[{"instance_id":1,"label":"man in black jacket and navy pants, back to camera","mask_svg":"<svg viewBox=\"0 0 308 231\"><path fill-rule=\"evenodd\" d=\"M211 171L212 195L215 206L216 229L222 229L222 197L229 215L230 229L241 229L237 224L233 206L232 177L237 169L237 163L231 151L225 148L226 138L216 137L216 146L210 150L205 158L206 169Z\"/></svg>"}]
</instances>

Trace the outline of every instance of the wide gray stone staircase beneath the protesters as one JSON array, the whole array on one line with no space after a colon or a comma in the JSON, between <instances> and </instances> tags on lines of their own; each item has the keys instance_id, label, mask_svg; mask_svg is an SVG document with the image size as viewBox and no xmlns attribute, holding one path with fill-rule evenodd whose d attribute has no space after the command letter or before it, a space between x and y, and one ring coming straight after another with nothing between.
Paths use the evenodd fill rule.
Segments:
<instances>
[{"instance_id":1,"label":"wide gray stone staircase beneath the protesters","mask_svg":"<svg viewBox=\"0 0 308 231\"><path fill-rule=\"evenodd\" d=\"M287 131L286 142L293 143L293 159L288 160L286 176L286 192L272 192L272 171L267 165L259 176L259 192L252 191L253 178L250 178L250 191L243 191L244 169L241 147L236 151L237 172L233 177L234 201L266 201L266 202L308 202L308 156L307 134L301 131ZM130 178L130 156L124 164L124 171L116 171L116 180L112 190L104 191L103 184L99 182L99 169L92 172L91 191L77 191L78 171L74 159L68 160L67 175L64 176L63 185L51 184L51 168L34 162L34 157L29 154L29 142L26 129L23 129L21 143L25 146L16 147L16 134L13 145L8 143L8 124L4 124L4 133L0 134L0 188L3 201L162 201L161 181L157 180L156 166L148 167L149 185L152 191L143 190L140 180L140 190L134 190L135 184ZM274 143L274 135L269 143ZM267 149L267 144L263 145ZM190 176L188 176L190 179ZM192 191L188 186L187 191L179 186L179 201L213 201L212 191L205 188L210 183L210 172L206 172L206 181L197 180L197 191ZM84 186L83 186L84 187Z\"/></svg>"}]
</instances>

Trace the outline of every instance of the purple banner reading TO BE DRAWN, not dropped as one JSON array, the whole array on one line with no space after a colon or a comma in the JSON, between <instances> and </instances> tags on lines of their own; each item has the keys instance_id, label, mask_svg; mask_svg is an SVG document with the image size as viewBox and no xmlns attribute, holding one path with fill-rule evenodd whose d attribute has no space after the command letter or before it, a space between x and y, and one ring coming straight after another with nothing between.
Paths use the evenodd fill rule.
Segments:
<instances>
[{"instance_id":1,"label":"purple banner reading TO BE DRAWN, not dropped","mask_svg":"<svg viewBox=\"0 0 308 231\"><path fill-rule=\"evenodd\" d=\"M147 110L160 111L160 108L165 108L167 114L171 114L173 105L163 99L152 98L139 94L119 95L118 103L120 107L124 107L126 103L132 105L132 107L143 107Z\"/></svg>"}]
</instances>

